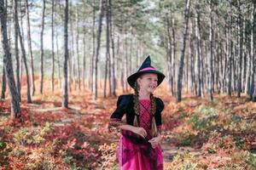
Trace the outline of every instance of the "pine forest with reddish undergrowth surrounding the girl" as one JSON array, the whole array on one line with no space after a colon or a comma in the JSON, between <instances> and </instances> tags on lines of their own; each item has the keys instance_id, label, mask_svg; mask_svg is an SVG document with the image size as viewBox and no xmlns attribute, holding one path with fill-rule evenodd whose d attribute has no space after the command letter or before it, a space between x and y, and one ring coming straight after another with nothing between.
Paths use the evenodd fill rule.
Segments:
<instances>
[{"instance_id":1,"label":"pine forest with reddish undergrowth surrounding the girl","mask_svg":"<svg viewBox=\"0 0 256 170\"><path fill-rule=\"evenodd\" d=\"M0 0L0 166L116 169L108 117L150 55L165 168L256 169L255 6Z\"/></svg>"}]
</instances>

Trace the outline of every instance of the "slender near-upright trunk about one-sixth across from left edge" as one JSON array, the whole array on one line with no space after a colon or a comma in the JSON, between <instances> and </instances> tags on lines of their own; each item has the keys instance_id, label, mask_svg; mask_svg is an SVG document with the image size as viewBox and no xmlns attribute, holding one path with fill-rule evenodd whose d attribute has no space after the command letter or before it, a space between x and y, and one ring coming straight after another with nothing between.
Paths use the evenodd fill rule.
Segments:
<instances>
[{"instance_id":1,"label":"slender near-upright trunk about one-sixth across from left edge","mask_svg":"<svg viewBox=\"0 0 256 170\"><path fill-rule=\"evenodd\" d=\"M41 30L41 54L40 54L40 94L43 94L44 84L44 13L45 13L45 0L43 0L43 15L42 15L42 30Z\"/></svg>"}]
</instances>

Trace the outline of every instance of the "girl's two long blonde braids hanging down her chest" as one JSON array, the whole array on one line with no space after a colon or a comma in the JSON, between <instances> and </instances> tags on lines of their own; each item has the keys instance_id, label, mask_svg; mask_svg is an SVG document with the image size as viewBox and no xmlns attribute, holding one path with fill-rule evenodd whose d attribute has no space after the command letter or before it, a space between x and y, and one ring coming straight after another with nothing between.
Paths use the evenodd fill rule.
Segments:
<instances>
[{"instance_id":1,"label":"girl's two long blonde braids hanging down her chest","mask_svg":"<svg viewBox=\"0 0 256 170\"><path fill-rule=\"evenodd\" d=\"M139 103L140 87L139 87L137 82L135 82L135 85L134 85L133 89L134 89L134 95L133 95L134 106L133 106L133 109L135 111L133 126L139 127L138 116L140 115L140 103ZM150 132L151 132L153 137L157 136L157 127L156 127L156 123L155 123L155 119L154 119L155 111L156 111L156 103L155 103L154 95L150 94L150 115L152 116Z\"/></svg>"}]
</instances>

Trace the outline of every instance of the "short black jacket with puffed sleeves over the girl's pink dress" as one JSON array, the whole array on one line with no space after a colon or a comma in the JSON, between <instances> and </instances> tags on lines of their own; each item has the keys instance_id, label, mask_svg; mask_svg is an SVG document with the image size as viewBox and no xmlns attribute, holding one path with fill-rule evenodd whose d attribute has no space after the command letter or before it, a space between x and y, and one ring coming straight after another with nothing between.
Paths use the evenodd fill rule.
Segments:
<instances>
[{"instance_id":1,"label":"short black jacket with puffed sleeves over the girl's pink dress","mask_svg":"<svg viewBox=\"0 0 256 170\"><path fill-rule=\"evenodd\" d=\"M156 126L159 127L162 124L161 111L163 111L164 109L164 103L160 98L154 99L156 103L154 119ZM110 116L110 126L119 126L124 115L126 115L126 123L132 126L134 117L136 115L133 106L133 94L120 95L117 101L117 108L115 111L113 111L113 114Z\"/></svg>"}]
</instances>

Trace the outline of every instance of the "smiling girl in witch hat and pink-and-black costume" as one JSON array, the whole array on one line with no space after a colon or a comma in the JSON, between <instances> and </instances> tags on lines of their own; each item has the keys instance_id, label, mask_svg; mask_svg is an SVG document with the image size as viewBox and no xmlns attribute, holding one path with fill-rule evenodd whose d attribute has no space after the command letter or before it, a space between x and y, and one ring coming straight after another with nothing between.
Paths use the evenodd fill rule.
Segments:
<instances>
[{"instance_id":1,"label":"smiling girl in witch hat and pink-and-black costume","mask_svg":"<svg viewBox=\"0 0 256 170\"><path fill-rule=\"evenodd\" d=\"M153 92L165 75L151 66L148 56L140 69L128 77L134 94L120 95L110 116L110 127L121 130L117 159L121 170L162 170L160 149L161 111L164 104ZM126 122L122 117L126 116Z\"/></svg>"}]
</instances>

